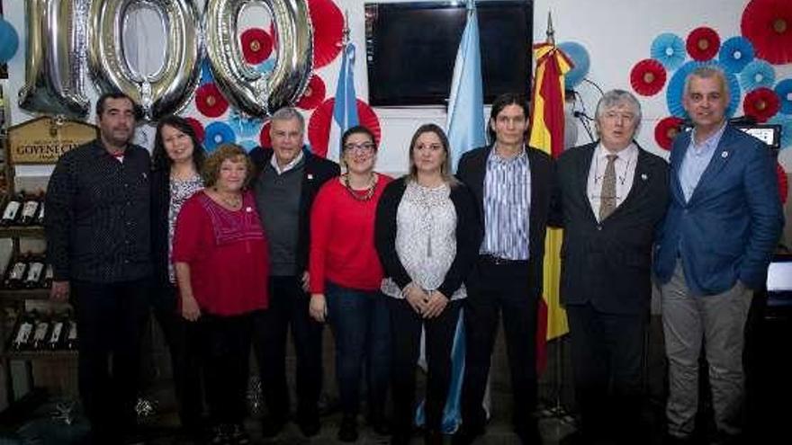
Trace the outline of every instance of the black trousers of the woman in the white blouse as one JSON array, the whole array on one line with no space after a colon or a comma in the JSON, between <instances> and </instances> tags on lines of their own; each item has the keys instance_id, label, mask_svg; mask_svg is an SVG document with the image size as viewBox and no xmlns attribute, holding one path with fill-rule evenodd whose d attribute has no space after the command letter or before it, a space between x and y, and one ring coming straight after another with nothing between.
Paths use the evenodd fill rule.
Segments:
<instances>
[{"instance_id":1,"label":"black trousers of the woman in the white blouse","mask_svg":"<svg viewBox=\"0 0 792 445\"><path fill-rule=\"evenodd\" d=\"M451 351L462 301L449 301L437 317L424 319L410 303L387 298L391 309L392 392L396 432L409 433L415 417L415 372L420 352L421 328L426 330L427 402L426 428L440 431L443 409L451 384Z\"/></svg>"}]
</instances>

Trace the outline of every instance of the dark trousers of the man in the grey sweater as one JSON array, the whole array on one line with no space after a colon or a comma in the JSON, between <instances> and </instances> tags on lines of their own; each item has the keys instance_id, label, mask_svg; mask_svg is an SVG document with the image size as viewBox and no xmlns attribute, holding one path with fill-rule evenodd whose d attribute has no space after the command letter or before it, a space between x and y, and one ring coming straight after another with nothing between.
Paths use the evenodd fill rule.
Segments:
<instances>
[{"instance_id":1,"label":"dark trousers of the man in the grey sweater","mask_svg":"<svg viewBox=\"0 0 792 445\"><path fill-rule=\"evenodd\" d=\"M254 320L254 343L267 411L285 420L291 412L286 381L286 337L292 326L297 353L297 415L319 415L322 324L308 312L310 296L300 277L270 277L269 307Z\"/></svg>"}]
</instances>

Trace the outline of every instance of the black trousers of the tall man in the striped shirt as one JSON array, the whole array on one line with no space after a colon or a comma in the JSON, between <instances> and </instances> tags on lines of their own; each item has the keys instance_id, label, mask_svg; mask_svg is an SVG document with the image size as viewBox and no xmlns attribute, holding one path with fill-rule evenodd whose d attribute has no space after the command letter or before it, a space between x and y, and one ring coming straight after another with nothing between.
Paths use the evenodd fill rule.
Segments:
<instances>
[{"instance_id":1,"label":"black trousers of the tall man in the striped shirt","mask_svg":"<svg viewBox=\"0 0 792 445\"><path fill-rule=\"evenodd\" d=\"M483 428L482 407L500 314L509 354L515 429L536 424L536 312L538 297L531 296L527 261L493 263L480 257L467 282L464 301L465 355L462 393L463 423Z\"/></svg>"}]
</instances>

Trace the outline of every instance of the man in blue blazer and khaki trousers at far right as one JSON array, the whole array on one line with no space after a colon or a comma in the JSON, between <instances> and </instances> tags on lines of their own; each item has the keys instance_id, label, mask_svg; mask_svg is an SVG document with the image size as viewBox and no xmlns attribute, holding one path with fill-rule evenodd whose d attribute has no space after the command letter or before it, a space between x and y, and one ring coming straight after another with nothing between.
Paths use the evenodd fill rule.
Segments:
<instances>
[{"instance_id":1,"label":"man in blue blazer and khaki trousers at far right","mask_svg":"<svg viewBox=\"0 0 792 445\"><path fill-rule=\"evenodd\" d=\"M720 69L694 70L683 97L694 127L671 150L671 205L654 264L669 360L671 441L687 442L693 434L702 341L717 441L731 443L741 434L743 327L784 224L770 150L727 124L728 103Z\"/></svg>"}]
</instances>

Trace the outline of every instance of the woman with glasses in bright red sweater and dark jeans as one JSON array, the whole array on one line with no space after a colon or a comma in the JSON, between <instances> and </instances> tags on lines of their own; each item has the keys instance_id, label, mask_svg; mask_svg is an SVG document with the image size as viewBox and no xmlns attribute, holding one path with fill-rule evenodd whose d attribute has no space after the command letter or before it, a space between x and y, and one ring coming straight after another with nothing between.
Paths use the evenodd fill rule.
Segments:
<instances>
[{"instance_id":1,"label":"woman with glasses in bright red sweater and dark jeans","mask_svg":"<svg viewBox=\"0 0 792 445\"><path fill-rule=\"evenodd\" d=\"M377 201L392 179L374 172L374 134L347 129L341 138L338 180L325 183L311 209L311 316L328 320L336 340L336 373L343 419L339 441L357 440L361 366L366 366L368 421L386 433L390 327L379 289L383 267L374 249Z\"/></svg>"}]
</instances>

